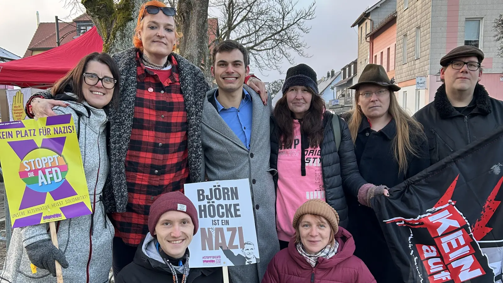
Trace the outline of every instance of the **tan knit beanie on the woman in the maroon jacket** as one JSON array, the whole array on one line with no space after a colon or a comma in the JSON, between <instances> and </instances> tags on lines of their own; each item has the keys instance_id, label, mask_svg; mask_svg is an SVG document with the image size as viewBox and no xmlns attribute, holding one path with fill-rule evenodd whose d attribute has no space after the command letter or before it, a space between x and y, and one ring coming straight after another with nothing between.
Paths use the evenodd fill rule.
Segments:
<instances>
[{"instance_id":1,"label":"tan knit beanie on the woman in the maroon jacket","mask_svg":"<svg viewBox=\"0 0 503 283\"><path fill-rule=\"evenodd\" d=\"M301 216L305 214L319 215L328 221L332 226L333 234L339 231L339 214L328 203L319 198L312 198L304 202L293 216L293 228L297 228L297 223Z\"/></svg>"}]
</instances>

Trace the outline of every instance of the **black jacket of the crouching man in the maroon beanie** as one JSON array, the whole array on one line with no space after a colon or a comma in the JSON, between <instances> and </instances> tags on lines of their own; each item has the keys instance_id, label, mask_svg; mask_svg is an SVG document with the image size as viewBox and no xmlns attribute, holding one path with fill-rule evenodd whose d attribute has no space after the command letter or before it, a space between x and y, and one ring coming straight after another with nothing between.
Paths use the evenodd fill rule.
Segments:
<instances>
[{"instance_id":1,"label":"black jacket of the crouching man in the maroon beanie","mask_svg":"<svg viewBox=\"0 0 503 283\"><path fill-rule=\"evenodd\" d=\"M173 273L170 268L155 259L149 258L142 251L143 241L138 246L133 262L124 267L116 283L172 283ZM177 271L178 281L182 274ZM190 268L187 283L221 283L222 268Z\"/></svg>"}]
</instances>

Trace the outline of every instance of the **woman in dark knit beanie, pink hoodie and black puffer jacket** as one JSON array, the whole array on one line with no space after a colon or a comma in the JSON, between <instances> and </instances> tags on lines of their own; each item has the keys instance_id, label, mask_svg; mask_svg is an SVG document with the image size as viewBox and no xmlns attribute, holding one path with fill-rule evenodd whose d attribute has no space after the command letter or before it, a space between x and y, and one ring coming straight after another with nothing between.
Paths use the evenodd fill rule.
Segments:
<instances>
[{"instance_id":1,"label":"woman in dark knit beanie, pink hoodie and black puffer jacket","mask_svg":"<svg viewBox=\"0 0 503 283\"><path fill-rule=\"evenodd\" d=\"M358 173L348 125L325 111L325 102L318 95L316 73L306 64L288 69L283 97L274 108L271 168L278 170L273 178L276 230L282 249L295 232L292 218L304 201L326 200L338 211L341 226L347 227L345 190L364 199L387 194L384 186L369 184Z\"/></svg>"}]
</instances>

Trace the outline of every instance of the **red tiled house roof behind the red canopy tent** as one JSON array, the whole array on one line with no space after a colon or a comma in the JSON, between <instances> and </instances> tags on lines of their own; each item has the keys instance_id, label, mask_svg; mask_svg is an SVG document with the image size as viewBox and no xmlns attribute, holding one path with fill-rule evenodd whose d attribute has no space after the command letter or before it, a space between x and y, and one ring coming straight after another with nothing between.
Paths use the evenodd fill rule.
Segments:
<instances>
[{"instance_id":1,"label":"red tiled house roof behind the red canopy tent","mask_svg":"<svg viewBox=\"0 0 503 283\"><path fill-rule=\"evenodd\" d=\"M59 38L62 38L63 35L67 34L60 42L60 44L64 44L66 42L70 42L73 40L73 36L77 35L76 28L74 26L59 23ZM28 48L26 49L26 53L23 57L31 56L32 50L34 48L47 48L51 49L57 46L56 43L56 24L55 23L40 23L37 27L37 31L32 37Z\"/></svg>"}]
</instances>

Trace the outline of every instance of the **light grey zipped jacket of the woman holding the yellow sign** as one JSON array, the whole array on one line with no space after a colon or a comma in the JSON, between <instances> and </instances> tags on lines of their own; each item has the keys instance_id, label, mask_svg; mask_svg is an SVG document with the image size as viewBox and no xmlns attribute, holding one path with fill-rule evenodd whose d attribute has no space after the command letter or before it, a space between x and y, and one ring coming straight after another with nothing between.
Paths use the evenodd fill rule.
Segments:
<instances>
[{"instance_id":1,"label":"light grey zipped jacket of the woman holding the yellow sign","mask_svg":"<svg viewBox=\"0 0 503 283\"><path fill-rule=\"evenodd\" d=\"M94 214L59 221L58 245L65 253L68 268L63 268L65 282L105 283L112 266L112 239L114 228L103 205L102 190L109 171L107 156L106 124L107 113L87 102L77 103L74 94L64 97L68 107L54 107L58 115L71 114L75 129L79 133L78 143L86 180L89 200ZM73 100L73 101L72 101ZM80 117L80 119L79 119ZM91 220L93 218L93 227ZM56 279L48 270L37 268L32 273L25 247L43 239L50 239L49 225L39 224L14 229L9 251L0 274L0 283L53 283Z\"/></svg>"}]
</instances>

